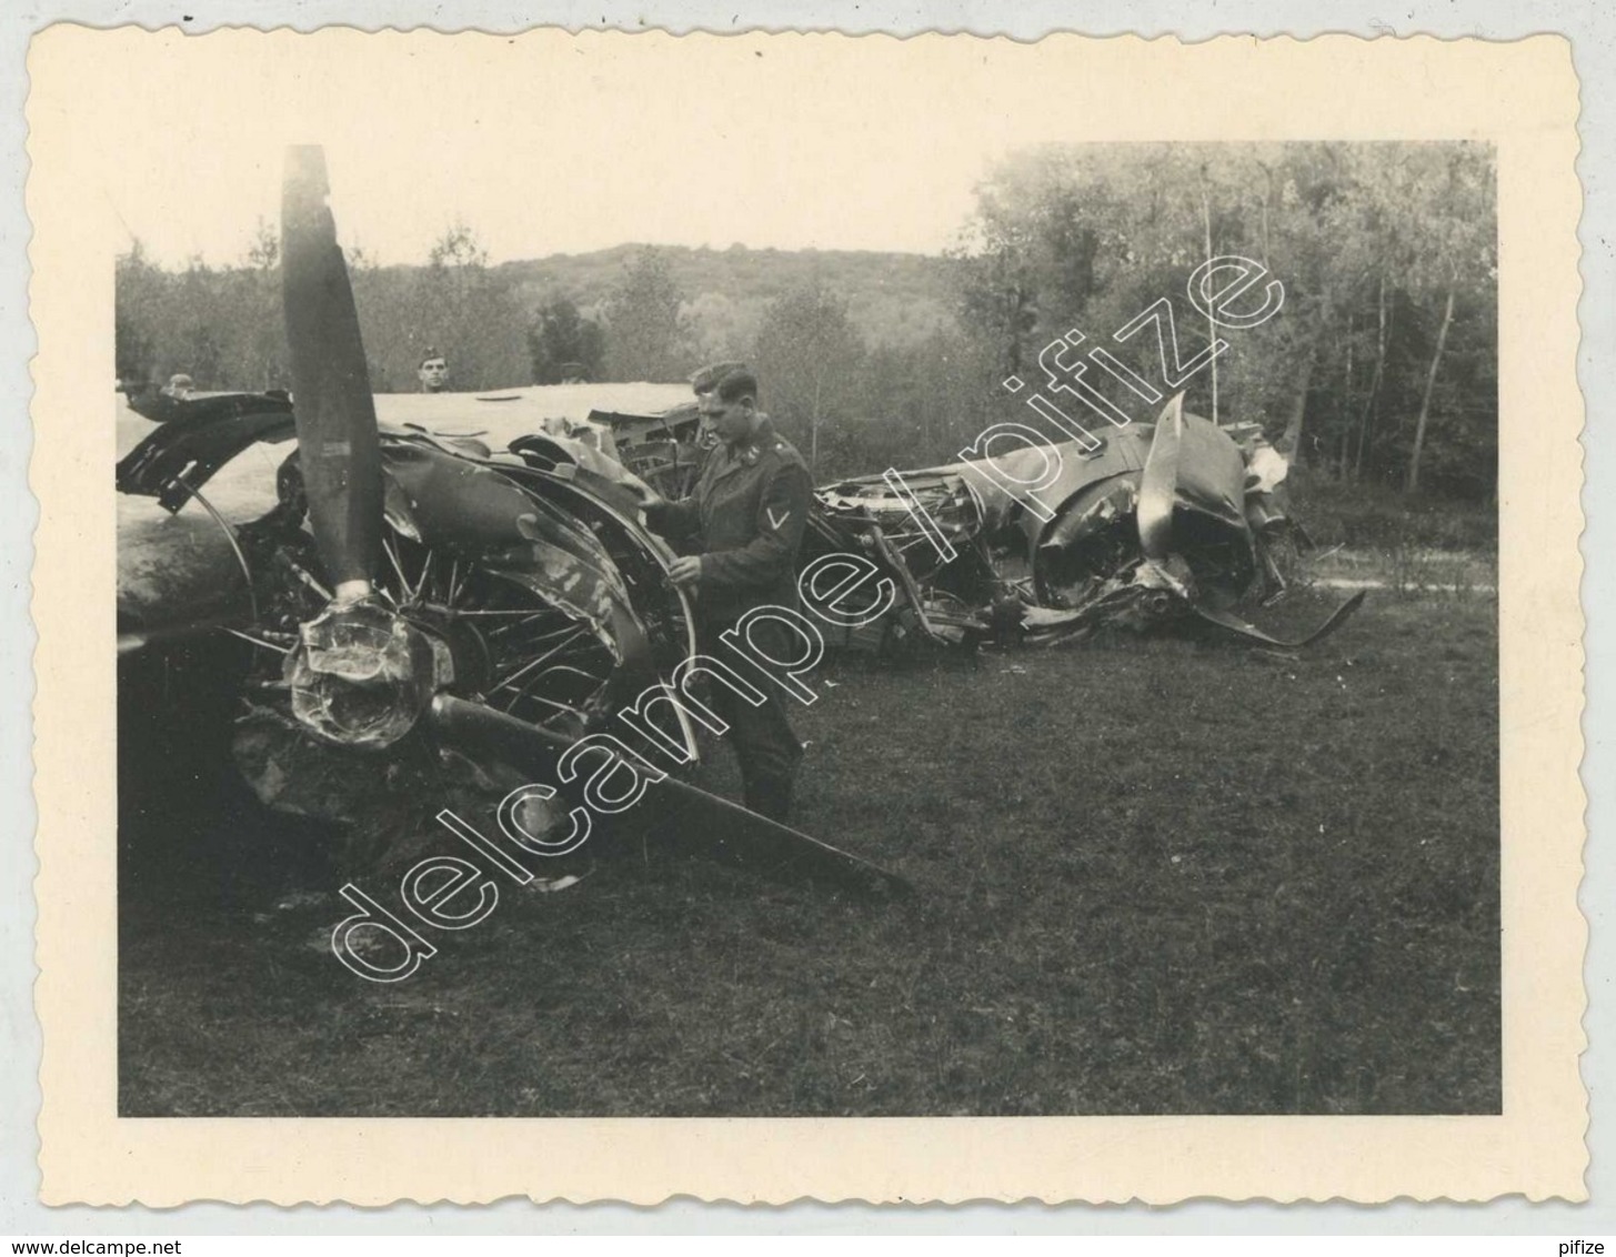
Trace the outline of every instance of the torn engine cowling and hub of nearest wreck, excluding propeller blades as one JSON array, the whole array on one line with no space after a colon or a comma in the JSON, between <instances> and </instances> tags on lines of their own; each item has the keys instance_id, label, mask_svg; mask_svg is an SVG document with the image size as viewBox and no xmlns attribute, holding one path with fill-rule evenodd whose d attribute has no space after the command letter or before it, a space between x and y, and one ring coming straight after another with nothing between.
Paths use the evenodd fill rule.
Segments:
<instances>
[{"instance_id":1,"label":"torn engine cowling and hub of nearest wreck, excluding propeller blades","mask_svg":"<svg viewBox=\"0 0 1616 1257\"><path fill-rule=\"evenodd\" d=\"M343 606L307 527L289 402L236 394L163 418L120 443L121 662L234 635L249 651L234 758L270 806L354 819L431 780L441 748L417 725L436 693L575 740L693 650L632 481L585 443L493 452L383 425L377 593ZM688 725L667 732L695 755ZM451 758L490 788L512 780Z\"/></svg>"}]
</instances>

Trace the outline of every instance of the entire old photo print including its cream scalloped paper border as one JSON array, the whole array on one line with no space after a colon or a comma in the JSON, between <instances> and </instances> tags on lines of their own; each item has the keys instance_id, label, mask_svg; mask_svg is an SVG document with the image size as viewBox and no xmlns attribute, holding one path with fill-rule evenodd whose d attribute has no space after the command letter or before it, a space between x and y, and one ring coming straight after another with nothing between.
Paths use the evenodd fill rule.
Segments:
<instances>
[{"instance_id":1,"label":"entire old photo print including its cream scalloped paper border","mask_svg":"<svg viewBox=\"0 0 1616 1257\"><path fill-rule=\"evenodd\" d=\"M1561 57L40 40L47 1197L1576 1194Z\"/></svg>"}]
</instances>

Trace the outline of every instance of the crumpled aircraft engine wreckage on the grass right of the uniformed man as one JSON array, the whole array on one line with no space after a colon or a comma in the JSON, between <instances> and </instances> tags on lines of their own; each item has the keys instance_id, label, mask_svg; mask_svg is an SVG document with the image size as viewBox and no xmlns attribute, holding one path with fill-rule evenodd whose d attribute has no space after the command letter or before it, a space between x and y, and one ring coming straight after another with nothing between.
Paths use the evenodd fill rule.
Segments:
<instances>
[{"instance_id":1,"label":"crumpled aircraft engine wreckage on the grass right of the uniformed man","mask_svg":"<svg viewBox=\"0 0 1616 1257\"><path fill-rule=\"evenodd\" d=\"M1280 498L1285 459L1257 425L1220 427L1175 397L1152 425L1092 444L837 481L819 491L819 544L863 543L903 598L894 625L944 645L1076 640L1100 627L1181 620L1270 645L1306 645L1239 619L1285 588L1278 553L1304 535Z\"/></svg>"}]
</instances>

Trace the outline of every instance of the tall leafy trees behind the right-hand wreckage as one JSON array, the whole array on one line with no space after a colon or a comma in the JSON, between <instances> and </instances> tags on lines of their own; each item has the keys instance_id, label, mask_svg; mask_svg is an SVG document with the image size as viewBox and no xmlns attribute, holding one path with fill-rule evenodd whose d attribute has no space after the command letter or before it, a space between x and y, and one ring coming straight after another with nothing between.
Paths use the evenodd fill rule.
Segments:
<instances>
[{"instance_id":1,"label":"tall leafy trees behind the right-hand wreckage","mask_svg":"<svg viewBox=\"0 0 1616 1257\"><path fill-rule=\"evenodd\" d=\"M1464 142L1036 149L978 192L957 250L966 322L1013 373L1052 334L1109 341L1176 296L1189 357L1210 338L1186 276L1207 257L1252 259L1285 284L1283 312L1230 336L1189 407L1212 412L1215 378L1220 418L1264 423L1322 473L1488 498L1493 176L1490 145Z\"/></svg>"}]
</instances>

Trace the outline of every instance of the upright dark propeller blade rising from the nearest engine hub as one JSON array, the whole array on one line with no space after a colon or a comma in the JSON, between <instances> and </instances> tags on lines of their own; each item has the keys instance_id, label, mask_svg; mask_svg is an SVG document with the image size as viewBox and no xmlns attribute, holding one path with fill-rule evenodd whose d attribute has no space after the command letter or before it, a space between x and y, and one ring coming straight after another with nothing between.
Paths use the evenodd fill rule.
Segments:
<instances>
[{"instance_id":1,"label":"upright dark propeller blade rising from the nearest engine hub","mask_svg":"<svg viewBox=\"0 0 1616 1257\"><path fill-rule=\"evenodd\" d=\"M381 549L381 451L347 265L336 244L325 150L286 150L281 281L297 457L326 575L368 582Z\"/></svg>"}]
</instances>

